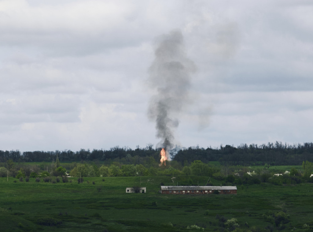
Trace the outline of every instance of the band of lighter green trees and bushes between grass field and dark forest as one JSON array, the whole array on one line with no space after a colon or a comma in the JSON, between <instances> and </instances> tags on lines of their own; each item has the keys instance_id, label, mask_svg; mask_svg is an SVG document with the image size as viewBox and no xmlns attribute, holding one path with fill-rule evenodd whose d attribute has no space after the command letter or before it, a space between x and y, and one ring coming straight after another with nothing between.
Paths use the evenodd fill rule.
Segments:
<instances>
[{"instance_id":1,"label":"band of lighter green trees and bushes between grass field and dark forest","mask_svg":"<svg viewBox=\"0 0 313 232\"><path fill-rule=\"evenodd\" d=\"M280 174L277 174L277 171L270 171L268 165L252 169L247 166L212 166L199 160L193 161L188 166L181 166L177 161L168 161L167 166L144 166L142 164L112 162L110 165L101 166L95 163L75 163L71 168L65 168L56 159L47 170L42 170L37 165L12 164L11 161L8 161L7 167L0 167L0 177L6 177L8 174L17 178L46 177L50 175L56 177L68 175L71 177L203 176L225 181L225 185L259 184L261 182L271 182L273 184L313 182L313 177L311 177L313 162L310 161L303 161L302 169L291 168L290 171ZM210 184L210 182L207 184Z\"/></svg>"}]
</instances>

